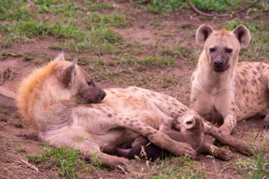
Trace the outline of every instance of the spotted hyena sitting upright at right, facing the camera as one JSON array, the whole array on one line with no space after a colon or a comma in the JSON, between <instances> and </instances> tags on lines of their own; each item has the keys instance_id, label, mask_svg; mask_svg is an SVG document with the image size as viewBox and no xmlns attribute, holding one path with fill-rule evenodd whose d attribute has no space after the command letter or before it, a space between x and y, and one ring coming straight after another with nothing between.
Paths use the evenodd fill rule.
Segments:
<instances>
[{"instance_id":1,"label":"spotted hyena sitting upright at right, facing the camera","mask_svg":"<svg viewBox=\"0 0 269 179\"><path fill-rule=\"evenodd\" d=\"M219 128L230 134L236 121L265 115L269 127L269 65L238 62L239 50L251 37L244 25L233 31L202 25L196 41L204 45L191 78L191 108L204 117L223 120Z\"/></svg>"}]
</instances>

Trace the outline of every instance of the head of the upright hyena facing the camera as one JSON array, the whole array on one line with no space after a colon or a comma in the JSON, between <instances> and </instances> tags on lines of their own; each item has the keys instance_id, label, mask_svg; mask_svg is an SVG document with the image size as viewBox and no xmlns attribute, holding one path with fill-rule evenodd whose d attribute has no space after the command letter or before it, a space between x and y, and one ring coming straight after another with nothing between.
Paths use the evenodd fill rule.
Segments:
<instances>
[{"instance_id":1,"label":"head of the upright hyena facing the camera","mask_svg":"<svg viewBox=\"0 0 269 179\"><path fill-rule=\"evenodd\" d=\"M222 72L234 67L238 61L239 50L246 47L251 36L244 25L234 30L213 30L210 25L201 25L196 33L196 41L204 45L206 58L214 71Z\"/></svg>"}]
</instances>

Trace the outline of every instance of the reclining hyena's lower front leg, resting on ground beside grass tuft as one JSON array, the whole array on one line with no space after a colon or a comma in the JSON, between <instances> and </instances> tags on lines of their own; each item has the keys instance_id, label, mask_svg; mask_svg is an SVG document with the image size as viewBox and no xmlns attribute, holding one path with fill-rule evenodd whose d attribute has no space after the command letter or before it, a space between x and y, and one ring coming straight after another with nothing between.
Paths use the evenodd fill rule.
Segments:
<instances>
[{"instance_id":1,"label":"reclining hyena's lower front leg, resting on ground beside grass tuft","mask_svg":"<svg viewBox=\"0 0 269 179\"><path fill-rule=\"evenodd\" d=\"M79 149L80 154L88 160L97 157L102 166L120 170L123 168L125 171L130 171L130 163L127 158L110 156L101 152L98 144L93 142L91 135L82 127L66 127L57 133L54 132L53 135L47 134L47 136L49 137L46 137L45 140L54 146Z\"/></svg>"}]
</instances>

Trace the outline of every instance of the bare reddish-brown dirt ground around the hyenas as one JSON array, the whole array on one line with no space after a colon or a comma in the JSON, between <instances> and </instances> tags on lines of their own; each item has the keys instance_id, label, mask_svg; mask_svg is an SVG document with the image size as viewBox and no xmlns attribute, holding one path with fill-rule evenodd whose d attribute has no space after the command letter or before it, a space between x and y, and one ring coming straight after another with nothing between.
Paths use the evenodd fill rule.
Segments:
<instances>
[{"instance_id":1,"label":"bare reddish-brown dirt ground around the hyenas","mask_svg":"<svg viewBox=\"0 0 269 179\"><path fill-rule=\"evenodd\" d=\"M192 60L175 54L176 66L174 67L148 68L143 71L132 69L135 76L156 74L156 79L161 79L161 76L175 77L179 81L176 85L164 86L163 81L159 79L156 81L149 79L146 82L133 84L166 93L188 105L190 75L195 69L197 54L201 50L195 43L195 30L203 23L212 25L214 28L221 28L224 23L229 23L231 18L203 18L195 15L192 10L185 9L168 15L152 14L137 8L130 2L115 3L115 6L118 7L118 13L124 14L132 25L127 28L113 27L113 30L122 35L125 40L139 42L141 48L137 53L137 58L144 57L147 54L159 54L160 45L183 45L195 52L196 59ZM249 19L244 13L240 13L236 18L241 21L248 21ZM264 19L264 21L269 21L268 13L263 13L260 18ZM185 28L184 25L188 26L188 28ZM8 49L0 48L2 55L0 74L8 74L8 69L11 70L8 80L1 81L0 91L4 91L7 94L6 96L9 94L12 97L21 79L40 64L47 62L48 59L53 59L56 54L61 52L61 50L49 48L57 40L55 37L37 37L32 42L25 44L13 43ZM30 59L28 60L29 54ZM70 58L100 58L93 52L72 53L65 50L64 54ZM115 54L104 54L101 58L105 62L115 62L115 56ZM88 69L86 66L82 67ZM111 67L111 70L114 69L117 69L117 66ZM89 70L89 72L91 73L92 71ZM93 78L95 78L94 74L96 74L95 71L93 71ZM113 80L98 79L97 84L103 88L126 87L130 84L120 82L121 78L128 81L127 76L120 75L114 76ZM67 178L50 168L38 168L39 172L37 172L23 164L22 158L25 159L26 154L40 151L44 144L38 140L33 127L23 122L11 98L0 96L0 105L0 178ZM233 135L246 142L253 142L254 139L256 146L261 146L263 137L267 137L266 142L269 142L269 130L262 127L263 120L260 117L256 117L239 122ZM20 152L18 149L25 149L25 152ZM241 173L234 168L233 164L239 158L246 157L236 152L234 154L234 158L228 162L202 155L198 156L196 161L202 166L201 170L205 172L205 178L243 178ZM144 161L133 160L132 163L134 167L130 174L127 175L120 173L120 171L100 171L98 168L93 168L82 176L83 178L149 178L151 175L154 175L149 170L149 168L153 167L152 163L149 163L149 168L147 168L147 164Z\"/></svg>"}]
</instances>

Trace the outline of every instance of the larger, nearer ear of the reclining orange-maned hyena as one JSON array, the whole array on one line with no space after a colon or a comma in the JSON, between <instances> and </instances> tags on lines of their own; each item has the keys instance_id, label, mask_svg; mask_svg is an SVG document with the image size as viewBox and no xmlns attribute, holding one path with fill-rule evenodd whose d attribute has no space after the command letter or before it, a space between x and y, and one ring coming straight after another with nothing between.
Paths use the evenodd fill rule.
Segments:
<instances>
[{"instance_id":1,"label":"larger, nearer ear of the reclining orange-maned hyena","mask_svg":"<svg viewBox=\"0 0 269 179\"><path fill-rule=\"evenodd\" d=\"M73 64L62 71L61 80L64 86L68 87L74 83L74 78L76 76L76 64L78 59L73 59Z\"/></svg>"}]
</instances>

